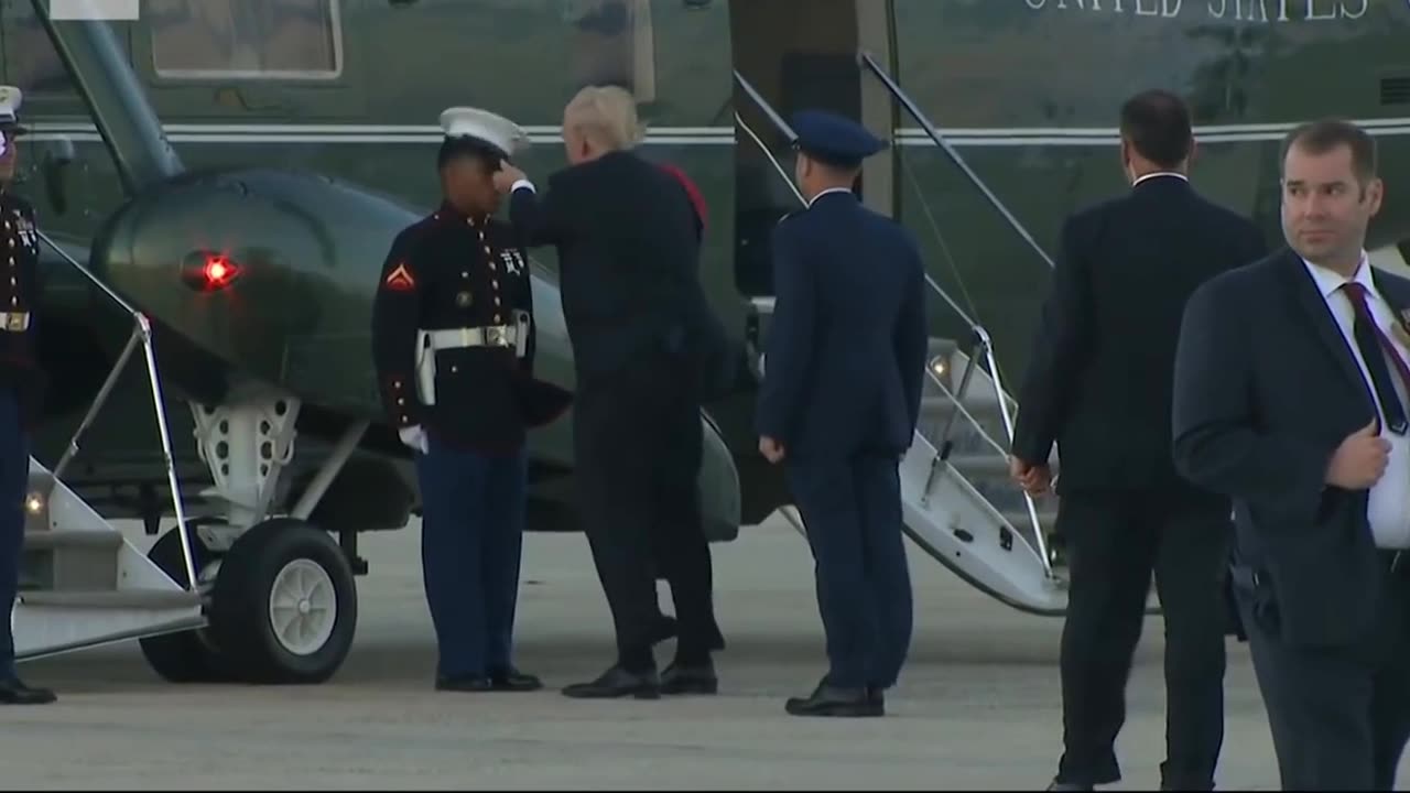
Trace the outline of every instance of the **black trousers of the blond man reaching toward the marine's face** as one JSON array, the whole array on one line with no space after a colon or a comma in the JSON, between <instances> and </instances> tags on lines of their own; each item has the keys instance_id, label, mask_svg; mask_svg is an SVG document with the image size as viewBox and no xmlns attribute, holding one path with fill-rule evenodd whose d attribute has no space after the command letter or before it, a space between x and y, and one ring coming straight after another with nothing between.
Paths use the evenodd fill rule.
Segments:
<instances>
[{"instance_id":1,"label":"black trousers of the blond man reaching toward the marine's face","mask_svg":"<svg viewBox=\"0 0 1410 793\"><path fill-rule=\"evenodd\" d=\"M704 663L723 638L701 525L701 413L685 367L644 356L580 380L572 429L581 515L612 610L618 663L630 672L656 665L657 564L675 603L677 662Z\"/></svg>"}]
</instances>

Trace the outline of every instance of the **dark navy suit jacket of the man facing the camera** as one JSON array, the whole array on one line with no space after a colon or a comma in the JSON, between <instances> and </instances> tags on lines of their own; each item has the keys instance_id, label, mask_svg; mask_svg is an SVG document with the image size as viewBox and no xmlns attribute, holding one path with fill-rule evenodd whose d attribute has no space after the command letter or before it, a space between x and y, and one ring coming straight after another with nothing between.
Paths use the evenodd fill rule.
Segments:
<instances>
[{"instance_id":1,"label":"dark navy suit jacket of the man facing the camera","mask_svg":"<svg viewBox=\"0 0 1410 793\"><path fill-rule=\"evenodd\" d=\"M1375 271L1396 316L1410 281ZM1366 635L1380 576L1368 491L1327 484L1375 402L1301 258L1283 250L1191 298L1175 368L1175 461L1234 500L1235 583L1293 645Z\"/></svg>"}]
</instances>

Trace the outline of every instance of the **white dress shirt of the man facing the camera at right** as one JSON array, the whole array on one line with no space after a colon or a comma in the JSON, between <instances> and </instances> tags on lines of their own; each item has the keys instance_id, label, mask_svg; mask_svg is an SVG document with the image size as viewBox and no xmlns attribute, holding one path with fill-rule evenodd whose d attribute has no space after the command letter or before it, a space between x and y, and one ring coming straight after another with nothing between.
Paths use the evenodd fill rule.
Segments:
<instances>
[{"instance_id":1,"label":"white dress shirt of the man facing the camera at right","mask_svg":"<svg viewBox=\"0 0 1410 793\"><path fill-rule=\"evenodd\" d=\"M1303 260L1303 264L1307 265L1307 272L1311 274L1313 281L1317 282L1317 288L1321 291L1323 299L1327 301L1327 309L1331 310L1337 326L1341 327L1341 334L1347 340L1351 357L1361 367L1361 377L1366 381L1366 391L1371 392L1371 398L1376 404L1376 411L1380 413L1380 437L1390 442L1390 459L1386 463L1386 473L1371 488L1369 502L1366 504L1366 519L1371 522L1371 533L1376 540L1376 547L1410 549L1410 437L1394 435L1386 428L1380 396L1376 395L1371 371L1366 368L1365 358L1361 357L1361 347L1356 346L1356 337L1352 332L1356 313L1351 303L1351 295L1341 288L1348 279L1307 260ZM1376 291L1376 285L1371 279L1371 261L1365 251L1361 254L1361 267L1356 268L1356 277L1352 281L1366 288L1366 306L1371 309L1371 316L1376 320L1376 326L1390 340L1400 360L1410 363L1410 349L1406 349L1404 343L1392 332L1392 326L1396 323L1393 309L1380 292ZM1410 401L1406 399L1400 375L1390 361L1386 361L1386 368L1390 371L1390 380L1394 382L1400 404L1410 412Z\"/></svg>"}]
</instances>

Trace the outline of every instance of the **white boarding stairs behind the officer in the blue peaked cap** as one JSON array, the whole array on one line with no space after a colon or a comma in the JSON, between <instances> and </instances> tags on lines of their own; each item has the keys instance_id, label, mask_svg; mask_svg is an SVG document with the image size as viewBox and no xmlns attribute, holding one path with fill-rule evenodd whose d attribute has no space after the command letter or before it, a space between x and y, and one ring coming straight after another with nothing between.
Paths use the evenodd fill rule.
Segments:
<instances>
[{"instance_id":1,"label":"white boarding stairs behind the officer in the blue peaked cap","mask_svg":"<svg viewBox=\"0 0 1410 793\"><path fill-rule=\"evenodd\" d=\"M1050 514L1008 481L1008 444L994 437L1011 436L1014 401L979 365L994 364L987 343L976 346L974 357L984 360L973 361L952 340L931 340L921 420L900 466L904 531L995 600L1031 614L1062 615L1066 583L1053 570L1043 528ZM784 516L804 531L797 508L785 508Z\"/></svg>"}]
</instances>

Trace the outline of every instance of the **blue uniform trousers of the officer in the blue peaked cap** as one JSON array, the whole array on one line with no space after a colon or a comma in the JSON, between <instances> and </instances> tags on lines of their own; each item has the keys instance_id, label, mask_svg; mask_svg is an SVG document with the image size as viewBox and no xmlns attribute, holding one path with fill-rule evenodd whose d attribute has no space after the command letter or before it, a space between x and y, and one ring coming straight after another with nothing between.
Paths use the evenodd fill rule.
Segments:
<instances>
[{"instance_id":1,"label":"blue uniform trousers of the officer in the blue peaked cap","mask_svg":"<svg viewBox=\"0 0 1410 793\"><path fill-rule=\"evenodd\" d=\"M914 611L897 457L784 463L812 547L828 683L888 689L911 646Z\"/></svg>"}]
</instances>

